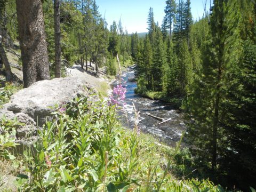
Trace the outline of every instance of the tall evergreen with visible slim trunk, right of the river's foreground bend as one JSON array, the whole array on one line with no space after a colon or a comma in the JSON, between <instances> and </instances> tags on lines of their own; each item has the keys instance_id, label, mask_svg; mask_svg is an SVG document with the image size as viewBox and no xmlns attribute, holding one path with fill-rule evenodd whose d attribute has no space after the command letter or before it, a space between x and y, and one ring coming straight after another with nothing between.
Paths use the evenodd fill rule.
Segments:
<instances>
[{"instance_id":1,"label":"tall evergreen with visible slim trunk, right of the river's foreground bend","mask_svg":"<svg viewBox=\"0 0 256 192\"><path fill-rule=\"evenodd\" d=\"M195 80L193 94L190 97L190 113L195 123L188 128L190 143L201 149L197 154L198 161L206 164L211 162L211 169L217 165L217 137L220 130L220 116L222 111L222 81L227 60L225 59L225 43L228 31L225 18L226 1L214 1L213 15L211 16L211 41L205 45L202 63L202 76ZM218 140L221 142L221 138ZM208 164L209 165L209 164ZM210 166L209 165L209 166Z\"/></svg>"}]
</instances>

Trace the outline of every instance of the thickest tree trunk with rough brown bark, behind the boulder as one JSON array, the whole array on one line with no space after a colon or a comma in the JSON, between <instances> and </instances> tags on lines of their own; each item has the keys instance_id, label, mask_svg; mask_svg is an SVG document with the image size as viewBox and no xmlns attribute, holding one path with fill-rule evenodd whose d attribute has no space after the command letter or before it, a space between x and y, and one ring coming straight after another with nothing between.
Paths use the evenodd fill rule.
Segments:
<instances>
[{"instance_id":1,"label":"thickest tree trunk with rough brown bark, behind the boulder","mask_svg":"<svg viewBox=\"0 0 256 192\"><path fill-rule=\"evenodd\" d=\"M50 79L41 0L16 0L23 86Z\"/></svg>"}]
</instances>

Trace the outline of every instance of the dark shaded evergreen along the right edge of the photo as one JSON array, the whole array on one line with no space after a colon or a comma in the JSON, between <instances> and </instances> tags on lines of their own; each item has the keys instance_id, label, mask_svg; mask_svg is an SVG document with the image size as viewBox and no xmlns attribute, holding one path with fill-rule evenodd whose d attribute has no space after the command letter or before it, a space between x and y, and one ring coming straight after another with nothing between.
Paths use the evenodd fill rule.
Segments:
<instances>
[{"instance_id":1,"label":"dark shaded evergreen along the right edge of the photo","mask_svg":"<svg viewBox=\"0 0 256 192\"><path fill-rule=\"evenodd\" d=\"M229 71L225 76L225 102L221 105L226 116L220 119L225 127L223 135L228 140L221 153L219 169L227 173L228 177L222 177L228 186L236 185L249 191L249 186L256 187L256 163L253 161L256 157L256 28L251 22L256 19L256 5L251 1L231 1L228 7L231 8L228 19L233 21L228 30L233 34L228 37L231 49Z\"/></svg>"}]
</instances>

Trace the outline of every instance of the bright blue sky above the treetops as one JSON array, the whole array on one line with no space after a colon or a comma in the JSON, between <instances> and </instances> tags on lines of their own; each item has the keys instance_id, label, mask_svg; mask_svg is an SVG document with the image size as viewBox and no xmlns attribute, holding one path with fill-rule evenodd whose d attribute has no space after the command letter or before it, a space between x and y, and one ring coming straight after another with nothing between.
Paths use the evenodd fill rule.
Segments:
<instances>
[{"instance_id":1,"label":"bright blue sky above the treetops","mask_svg":"<svg viewBox=\"0 0 256 192\"><path fill-rule=\"evenodd\" d=\"M206 0L191 0L191 12L194 20L202 17ZM176 0L179 2L179 0ZM147 31L147 15L149 7L153 7L155 21L161 25L164 17L165 0L96 0L102 17L108 22L108 27L121 17L122 26L129 33ZM206 10L209 11L210 0L207 0Z\"/></svg>"}]
</instances>

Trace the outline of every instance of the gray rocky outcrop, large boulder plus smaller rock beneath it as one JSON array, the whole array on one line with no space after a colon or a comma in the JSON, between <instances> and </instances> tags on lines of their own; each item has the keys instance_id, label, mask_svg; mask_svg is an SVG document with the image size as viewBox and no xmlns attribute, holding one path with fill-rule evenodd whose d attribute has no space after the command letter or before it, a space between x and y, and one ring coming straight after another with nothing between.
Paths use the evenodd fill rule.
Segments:
<instances>
[{"instance_id":1,"label":"gray rocky outcrop, large boulder plus smaller rock beneath it","mask_svg":"<svg viewBox=\"0 0 256 192\"><path fill-rule=\"evenodd\" d=\"M42 127L46 119L49 121L58 106L77 95L99 100L98 94L94 93L97 91L84 78L65 77L39 81L12 95L10 102L0 110L0 116L17 117L19 122L25 124L17 127L17 139L24 143L24 138L35 137L37 127Z\"/></svg>"}]
</instances>

